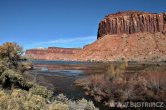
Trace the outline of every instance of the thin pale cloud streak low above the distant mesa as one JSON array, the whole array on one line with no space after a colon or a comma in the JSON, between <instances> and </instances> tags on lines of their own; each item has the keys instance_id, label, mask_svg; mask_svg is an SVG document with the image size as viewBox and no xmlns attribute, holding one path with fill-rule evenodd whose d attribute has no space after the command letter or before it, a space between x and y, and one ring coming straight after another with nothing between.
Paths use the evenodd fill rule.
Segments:
<instances>
[{"instance_id":1,"label":"thin pale cloud streak low above the distant mesa","mask_svg":"<svg viewBox=\"0 0 166 110\"><path fill-rule=\"evenodd\" d=\"M96 40L96 36L85 36L85 37L75 37L75 38L63 38L63 39L54 39L45 42L35 43L36 47L83 47L89 43L92 43Z\"/></svg>"}]
</instances>

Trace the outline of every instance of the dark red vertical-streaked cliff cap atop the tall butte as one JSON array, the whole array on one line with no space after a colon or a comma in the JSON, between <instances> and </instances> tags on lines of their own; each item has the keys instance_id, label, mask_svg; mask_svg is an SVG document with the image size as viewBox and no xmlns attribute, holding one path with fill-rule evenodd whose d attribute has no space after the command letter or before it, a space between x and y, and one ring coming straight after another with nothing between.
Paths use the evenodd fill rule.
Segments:
<instances>
[{"instance_id":1,"label":"dark red vertical-streaked cliff cap atop the tall butte","mask_svg":"<svg viewBox=\"0 0 166 110\"><path fill-rule=\"evenodd\" d=\"M99 23L98 39L104 35L162 32L166 34L166 13L119 12L107 15Z\"/></svg>"}]
</instances>

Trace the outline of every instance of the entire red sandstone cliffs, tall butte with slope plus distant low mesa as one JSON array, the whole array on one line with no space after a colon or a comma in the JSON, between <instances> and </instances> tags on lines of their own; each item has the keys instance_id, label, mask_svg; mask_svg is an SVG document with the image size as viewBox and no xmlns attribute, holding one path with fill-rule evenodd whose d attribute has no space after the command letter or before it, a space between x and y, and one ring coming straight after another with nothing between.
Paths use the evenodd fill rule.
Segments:
<instances>
[{"instance_id":1,"label":"entire red sandstone cliffs, tall butte with slope plus distant low mesa","mask_svg":"<svg viewBox=\"0 0 166 110\"><path fill-rule=\"evenodd\" d=\"M32 49L26 55L45 60L166 60L166 13L107 15L99 23L97 38L83 49Z\"/></svg>"}]
</instances>

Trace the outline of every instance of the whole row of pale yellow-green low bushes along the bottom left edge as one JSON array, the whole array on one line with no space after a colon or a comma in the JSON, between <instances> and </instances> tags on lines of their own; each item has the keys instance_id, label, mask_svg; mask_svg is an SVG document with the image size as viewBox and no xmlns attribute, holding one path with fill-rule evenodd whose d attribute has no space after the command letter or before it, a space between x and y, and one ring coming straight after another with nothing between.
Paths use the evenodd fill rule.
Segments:
<instances>
[{"instance_id":1,"label":"whole row of pale yellow-green low bushes along the bottom left edge","mask_svg":"<svg viewBox=\"0 0 166 110\"><path fill-rule=\"evenodd\" d=\"M9 93L0 91L0 110L97 110L97 108L90 101L85 99L71 101L62 94L47 104L41 95L15 89Z\"/></svg>"}]
</instances>

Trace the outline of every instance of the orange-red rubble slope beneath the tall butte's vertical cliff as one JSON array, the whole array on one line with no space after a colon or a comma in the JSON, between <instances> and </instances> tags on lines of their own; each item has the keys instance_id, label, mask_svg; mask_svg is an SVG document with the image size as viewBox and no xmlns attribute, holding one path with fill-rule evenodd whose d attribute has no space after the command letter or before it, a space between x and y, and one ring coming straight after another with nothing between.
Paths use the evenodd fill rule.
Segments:
<instances>
[{"instance_id":1,"label":"orange-red rubble slope beneath the tall butte's vertical cliff","mask_svg":"<svg viewBox=\"0 0 166 110\"><path fill-rule=\"evenodd\" d=\"M79 56L77 60L164 60L166 36L161 33L105 35L76 56Z\"/></svg>"}]
</instances>

